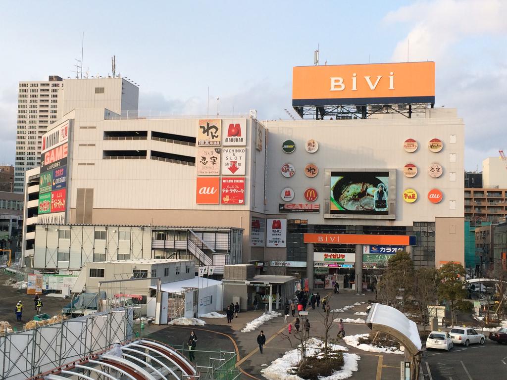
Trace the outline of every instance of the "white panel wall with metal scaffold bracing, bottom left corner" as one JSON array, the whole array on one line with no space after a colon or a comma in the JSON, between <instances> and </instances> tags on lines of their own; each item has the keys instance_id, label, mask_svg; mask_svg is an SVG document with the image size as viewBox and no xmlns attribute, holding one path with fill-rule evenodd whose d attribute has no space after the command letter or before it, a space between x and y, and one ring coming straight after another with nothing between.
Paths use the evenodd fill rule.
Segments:
<instances>
[{"instance_id":1,"label":"white panel wall with metal scaffold bracing, bottom left corner","mask_svg":"<svg viewBox=\"0 0 507 380\"><path fill-rule=\"evenodd\" d=\"M0 378L26 379L105 350L134 335L132 308L117 309L0 337Z\"/></svg>"}]
</instances>

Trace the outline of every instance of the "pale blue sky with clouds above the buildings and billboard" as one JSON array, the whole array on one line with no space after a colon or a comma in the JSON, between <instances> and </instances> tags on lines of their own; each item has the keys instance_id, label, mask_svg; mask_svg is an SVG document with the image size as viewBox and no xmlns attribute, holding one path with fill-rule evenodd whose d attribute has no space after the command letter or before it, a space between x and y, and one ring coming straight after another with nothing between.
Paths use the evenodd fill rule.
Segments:
<instances>
[{"instance_id":1,"label":"pale blue sky with clouds above the buildings and billboard","mask_svg":"<svg viewBox=\"0 0 507 380\"><path fill-rule=\"evenodd\" d=\"M14 164L19 81L117 73L141 115L258 110L288 119L292 67L436 62L436 106L465 123L465 169L507 150L507 1L24 1L0 9L0 163ZM408 57L407 57L408 46Z\"/></svg>"}]
</instances>

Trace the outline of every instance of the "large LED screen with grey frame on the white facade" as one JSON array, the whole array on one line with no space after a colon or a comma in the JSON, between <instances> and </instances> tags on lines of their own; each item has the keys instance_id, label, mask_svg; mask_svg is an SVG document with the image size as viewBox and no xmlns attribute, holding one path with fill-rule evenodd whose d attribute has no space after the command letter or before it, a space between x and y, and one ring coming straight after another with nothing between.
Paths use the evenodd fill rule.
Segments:
<instances>
[{"instance_id":1,"label":"large LED screen with grey frame on the white facade","mask_svg":"<svg viewBox=\"0 0 507 380\"><path fill-rule=\"evenodd\" d=\"M327 169L325 174L325 217L395 217L394 169Z\"/></svg>"}]
</instances>

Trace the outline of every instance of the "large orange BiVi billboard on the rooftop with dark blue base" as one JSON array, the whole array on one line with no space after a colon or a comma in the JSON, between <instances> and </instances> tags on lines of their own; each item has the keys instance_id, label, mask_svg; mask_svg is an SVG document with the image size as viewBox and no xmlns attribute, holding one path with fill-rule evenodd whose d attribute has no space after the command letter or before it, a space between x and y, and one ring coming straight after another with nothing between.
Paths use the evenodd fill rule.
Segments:
<instances>
[{"instance_id":1,"label":"large orange BiVi billboard on the rooftop with dark blue base","mask_svg":"<svg viewBox=\"0 0 507 380\"><path fill-rule=\"evenodd\" d=\"M293 106L431 103L435 63L296 66Z\"/></svg>"}]
</instances>

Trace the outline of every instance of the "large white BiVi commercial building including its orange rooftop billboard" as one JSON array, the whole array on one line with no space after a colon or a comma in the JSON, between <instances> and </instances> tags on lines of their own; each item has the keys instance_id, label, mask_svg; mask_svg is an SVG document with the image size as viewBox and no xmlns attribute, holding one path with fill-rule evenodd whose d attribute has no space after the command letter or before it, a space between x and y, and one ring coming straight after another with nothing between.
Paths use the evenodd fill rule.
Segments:
<instances>
[{"instance_id":1,"label":"large white BiVi commercial building including its orange rooftop billboard","mask_svg":"<svg viewBox=\"0 0 507 380\"><path fill-rule=\"evenodd\" d=\"M27 209L48 226L243 229L243 262L304 287L370 286L399 250L416 267L463 263L464 124L433 108L434 63L294 72L295 110L320 120L69 111L45 135Z\"/></svg>"}]
</instances>

